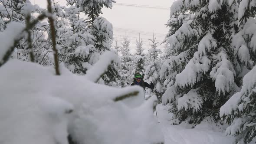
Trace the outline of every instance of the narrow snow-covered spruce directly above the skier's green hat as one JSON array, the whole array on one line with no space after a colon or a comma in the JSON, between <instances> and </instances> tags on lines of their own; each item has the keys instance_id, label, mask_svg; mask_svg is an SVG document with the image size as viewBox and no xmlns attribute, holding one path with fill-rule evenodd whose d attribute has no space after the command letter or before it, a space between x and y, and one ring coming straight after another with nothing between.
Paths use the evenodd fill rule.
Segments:
<instances>
[{"instance_id":1,"label":"narrow snow-covered spruce directly above the skier's green hat","mask_svg":"<svg viewBox=\"0 0 256 144\"><path fill-rule=\"evenodd\" d=\"M143 40L141 39L141 36L139 36L139 40L136 39L136 72L144 74L144 60L145 60L145 55L143 53Z\"/></svg>"}]
</instances>

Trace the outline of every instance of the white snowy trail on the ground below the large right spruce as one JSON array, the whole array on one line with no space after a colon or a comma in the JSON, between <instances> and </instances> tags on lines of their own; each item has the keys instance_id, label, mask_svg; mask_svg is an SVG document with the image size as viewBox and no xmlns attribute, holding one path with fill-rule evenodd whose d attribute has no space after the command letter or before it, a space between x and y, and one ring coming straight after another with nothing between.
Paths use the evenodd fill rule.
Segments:
<instances>
[{"instance_id":1,"label":"white snowy trail on the ground below the large right spruce","mask_svg":"<svg viewBox=\"0 0 256 144\"><path fill-rule=\"evenodd\" d=\"M186 128L186 125L171 125L168 120L171 114L167 108L158 105L158 121L164 133L164 144L232 144L233 138L226 137L225 133L217 130L213 124L199 124L196 128Z\"/></svg>"}]
</instances>

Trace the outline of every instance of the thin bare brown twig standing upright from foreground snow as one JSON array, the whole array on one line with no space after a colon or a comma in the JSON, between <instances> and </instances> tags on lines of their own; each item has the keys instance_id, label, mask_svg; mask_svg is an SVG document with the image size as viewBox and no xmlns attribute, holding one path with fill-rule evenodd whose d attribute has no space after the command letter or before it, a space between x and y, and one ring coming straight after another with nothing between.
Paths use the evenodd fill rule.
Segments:
<instances>
[{"instance_id":1,"label":"thin bare brown twig standing upright from foreground snow","mask_svg":"<svg viewBox=\"0 0 256 144\"><path fill-rule=\"evenodd\" d=\"M48 6L47 6L48 12L50 14L52 14L53 10L52 10L51 0L47 0L47 2L48 2ZM49 23L50 23L50 28L51 28L51 35L52 35L52 42L53 42L53 51L54 51L53 54L54 54L55 71L56 71L56 75L60 75L59 61L58 61L58 50L56 49L56 36L55 36L54 20L53 20L52 15L48 16L48 18L49 18Z\"/></svg>"}]
</instances>

